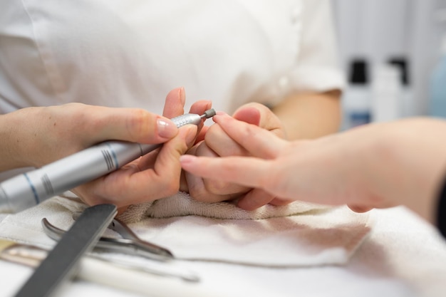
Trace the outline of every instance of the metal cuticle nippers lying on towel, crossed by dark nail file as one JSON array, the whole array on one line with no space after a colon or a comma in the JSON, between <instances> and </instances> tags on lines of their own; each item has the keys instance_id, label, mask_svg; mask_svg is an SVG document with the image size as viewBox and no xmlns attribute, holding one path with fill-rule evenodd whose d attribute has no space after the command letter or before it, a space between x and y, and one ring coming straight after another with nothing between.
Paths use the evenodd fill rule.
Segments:
<instances>
[{"instance_id":1,"label":"metal cuticle nippers lying on towel, crossed by dark nail file","mask_svg":"<svg viewBox=\"0 0 446 297\"><path fill-rule=\"evenodd\" d=\"M73 215L76 219L76 213ZM58 241L66 232L58 227L52 225L46 218L42 219L43 231L51 239ZM143 241L133 231L126 226L119 219L113 219L113 222L108 226L113 231L118 232L123 238L100 237L98 243L95 245L95 250L104 250L109 252L118 252L123 254L130 254L134 256L143 256L147 259L157 261L168 261L174 259L173 254L162 246L151 244Z\"/></svg>"}]
</instances>

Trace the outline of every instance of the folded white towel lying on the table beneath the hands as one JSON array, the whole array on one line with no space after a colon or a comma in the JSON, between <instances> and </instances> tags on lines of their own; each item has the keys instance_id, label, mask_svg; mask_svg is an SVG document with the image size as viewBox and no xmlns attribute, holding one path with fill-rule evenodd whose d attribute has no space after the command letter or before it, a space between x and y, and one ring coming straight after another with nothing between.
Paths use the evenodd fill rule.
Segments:
<instances>
[{"instance_id":1,"label":"folded white towel lying on the table beneath the hands","mask_svg":"<svg viewBox=\"0 0 446 297\"><path fill-rule=\"evenodd\" d=\"M85 207L76 198L48 199L4 218L0 237L51 246L54 242L43 234L41 219L68 229L72 213ZM196 202L181 192L129 207L120 219L142 239L167 247L179 259L256 266L345 264L370 231L368 214L347 207L294 202L247 212L227 202Z\"/></svg>"}]
</instances>

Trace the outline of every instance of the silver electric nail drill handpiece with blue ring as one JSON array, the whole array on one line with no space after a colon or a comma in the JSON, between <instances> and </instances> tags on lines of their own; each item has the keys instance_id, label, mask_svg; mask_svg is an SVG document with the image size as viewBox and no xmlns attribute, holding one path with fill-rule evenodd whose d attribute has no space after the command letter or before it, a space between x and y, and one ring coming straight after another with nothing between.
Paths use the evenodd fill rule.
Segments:
<instances>
[{"instance_id":1,"label":"silver electric nail drill handpiece with blue ring","mask_svg":"<svg viewBox=\"0 0 446 297\"><path fill-rule=\"evenodd\" d=\"M185 114L172 118L177 127L198 125L214 115ZM142 155L160 147L134 142L108 141L64 157L37 170L20 174L0 184L0 212L19 212L80 184L118 170Z\"/></svg>"}]
</instances>

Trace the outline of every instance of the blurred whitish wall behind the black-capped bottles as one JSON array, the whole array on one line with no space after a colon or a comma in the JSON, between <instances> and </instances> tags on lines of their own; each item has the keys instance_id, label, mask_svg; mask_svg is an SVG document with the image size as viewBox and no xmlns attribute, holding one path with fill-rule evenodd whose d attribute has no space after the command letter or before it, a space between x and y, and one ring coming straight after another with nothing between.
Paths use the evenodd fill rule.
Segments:
<instances>
[{"instance_id":1,"label":"blurred whitish wall behind the black-capped bottles","mask_svg":"<svg viewBox=\"0 0 446 297\"><path fill-rule=\"evenodd\" d=\"M439 21L446 16L446 0L332 1L345 70L353 58L364 58L373 80L390 58L407 58L410 85L404 88L410 95L403 98L400 117L425 115L430 73L446 32L445 22Z\"/></svg>"}]
</instances>

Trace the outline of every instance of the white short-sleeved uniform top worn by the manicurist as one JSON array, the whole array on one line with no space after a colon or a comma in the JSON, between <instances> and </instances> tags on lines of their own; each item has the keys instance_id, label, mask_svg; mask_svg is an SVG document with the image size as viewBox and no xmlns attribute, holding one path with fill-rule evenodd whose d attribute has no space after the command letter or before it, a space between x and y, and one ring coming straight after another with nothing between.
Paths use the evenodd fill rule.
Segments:
<instances>
[{"instance_id":1,"label":"white short-sleeved uniform top worn by the manicurist","mask_svg":"<svg viewBox=\"0 0 446 297\"><path fill-rule=\"evenodd\" d=\"M2 0L0 113L82 102L228 113L343 87L329 0Z\"/></svg>"}]
</instances>

